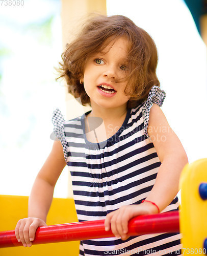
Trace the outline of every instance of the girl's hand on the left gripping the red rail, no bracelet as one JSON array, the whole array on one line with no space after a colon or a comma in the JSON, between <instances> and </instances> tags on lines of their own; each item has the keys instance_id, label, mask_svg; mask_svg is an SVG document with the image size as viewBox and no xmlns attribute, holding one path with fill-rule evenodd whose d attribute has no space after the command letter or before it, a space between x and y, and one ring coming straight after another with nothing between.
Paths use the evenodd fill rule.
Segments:
<instances>
[{"instance_id":1,"label":"girl's hand on the left gripping the red rail, no bracelet","mask_svg":"<svg viewBox=\"0 0 207 256\"><path fill-rule=\"evenodd\" d=\"M35 239L35 232L40 226L46 226L46 223L39 218L29 217L19 220L15 228L16 239L24 247L32 246L32 241Z\"/></svg>"}]
</instances>

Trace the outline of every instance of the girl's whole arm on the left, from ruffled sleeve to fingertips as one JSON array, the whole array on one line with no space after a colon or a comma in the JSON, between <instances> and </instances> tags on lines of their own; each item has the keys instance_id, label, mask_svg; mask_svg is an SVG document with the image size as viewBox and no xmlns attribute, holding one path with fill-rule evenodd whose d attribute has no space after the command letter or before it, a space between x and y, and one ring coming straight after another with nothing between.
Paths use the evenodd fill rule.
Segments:
<instances>
[{"instance_id":1,"label":"girl's whole arm on the left, from ruffled sleeve to fingertips","mask_svg":"<svg viewBox=\"0 0 207 256\"><path fill-rule=\"evenodd\" d=\"M29 197L28 218L19 220L15 234L23 246L31 246L36 229L46 225L46 216L53 200L55 184L66 162L60 141L55 141L53 148L40 169Z\"/></svg>"}]
</instances>

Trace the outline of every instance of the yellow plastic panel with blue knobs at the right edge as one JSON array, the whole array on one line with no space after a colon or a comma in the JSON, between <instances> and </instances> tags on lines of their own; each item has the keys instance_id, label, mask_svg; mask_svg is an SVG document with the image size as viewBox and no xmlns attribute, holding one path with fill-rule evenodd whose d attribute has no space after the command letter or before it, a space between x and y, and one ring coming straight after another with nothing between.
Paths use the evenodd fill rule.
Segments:
<instances>
[{"instance_id":1,"label":"yellow plastic panel with blue knobs at the right edge","mask_svg":"<svg viewBox=\"0 0 207 256\"><path fill-rule=\"evenodd\" d=\"M207 238L207 200L202 200L199 185L207 183L207 158L187 164L180 178L180 232L183 254L205 255L203 242Z\"/></svg>"}]
</instances>

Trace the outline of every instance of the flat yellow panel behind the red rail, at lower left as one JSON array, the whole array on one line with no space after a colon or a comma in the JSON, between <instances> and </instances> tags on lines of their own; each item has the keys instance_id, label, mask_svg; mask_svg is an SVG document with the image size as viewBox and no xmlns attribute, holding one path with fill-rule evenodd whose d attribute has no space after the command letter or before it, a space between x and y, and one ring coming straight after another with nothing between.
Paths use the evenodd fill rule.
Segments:
<instances>
[{"instance_id":1,"label":"flat yellow panel behind the red rail, at lower left","mask_svg":"<svg viewBox=\"0 0 207 256\"><path fill-rule=\"evenodd\" d=\"M0 195L0 231L15 229L19 219L27 217L28 197ZM47 225L77 222L74 201L71 198L54 198L47 217ZM32 247L0 248L1 256L77 256L79 241L41 244Z\"/></svg>"}]
</instances>

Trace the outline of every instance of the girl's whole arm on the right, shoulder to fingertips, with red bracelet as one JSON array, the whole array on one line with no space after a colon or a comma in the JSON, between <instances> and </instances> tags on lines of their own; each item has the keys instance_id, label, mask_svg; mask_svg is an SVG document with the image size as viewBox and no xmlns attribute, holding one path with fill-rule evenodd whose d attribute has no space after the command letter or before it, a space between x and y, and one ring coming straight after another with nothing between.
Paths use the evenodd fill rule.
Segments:
<instances>
[{"instance_id":1,"label":"girl's whole arm on the right, shoulder to fingertips, with red bracelet","mask_svg":"<svg viewBox=\"0 0 207 256\"><path fill-rule=\"evenodd\" d=\"M148 134L161 161L156 182L146 200L156 203L162 211L178 193L178 183L183 167L188 163L186 152L169 126L160 107L150 109ZM105 220L106 230L112 229L116 237L128 238L128 221L138 215L157 214L158 208L149 202L126 205L110 212Z\"/></svg>"}]
</instances>

